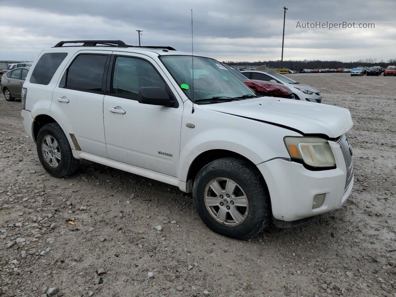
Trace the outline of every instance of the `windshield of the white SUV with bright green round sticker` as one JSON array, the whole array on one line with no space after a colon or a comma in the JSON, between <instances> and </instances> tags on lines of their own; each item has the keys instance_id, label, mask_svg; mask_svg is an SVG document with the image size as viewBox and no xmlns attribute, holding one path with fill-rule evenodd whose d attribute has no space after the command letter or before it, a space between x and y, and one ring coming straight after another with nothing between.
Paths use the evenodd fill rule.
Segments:
<instances>
[{"instance_id":1,"label":"windshield of the white SUV with bright green round sticker","mask_svg":"<svg viewBox=\"0 0 396 297\"><path fill-rule=\"evenodd\" d=\"M219 97L255 96L246 84L214 59L194 56L194 67L192 66L192 56L168 55L162 56L161 61L190 100L193 95L193 83L194 101L199 100L200 103L204 103L204 101L219 103L221 102L218 100ZM211 100L212 97L217 99ZM248 99L249 97L243 98Z\"/></svg>"}]
</instances>

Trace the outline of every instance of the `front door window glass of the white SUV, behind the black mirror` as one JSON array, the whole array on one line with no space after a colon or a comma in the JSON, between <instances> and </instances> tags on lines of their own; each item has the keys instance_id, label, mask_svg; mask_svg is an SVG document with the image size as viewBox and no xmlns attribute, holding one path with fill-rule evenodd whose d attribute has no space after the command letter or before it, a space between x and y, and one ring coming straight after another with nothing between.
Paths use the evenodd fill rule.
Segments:
<instances>
[{"instance_id":1,"label":"front door window glass of the white SUV, behind the black mirror","mask_svg":"<svg viewBox=\"0 0 396 297\"><path fill-rule=\"evenodd\" d=\"M147 61L117 57L114 64L112 93L120 97L137 100L141 87L165 89L165 82Z\"/></svg>"}]
</instances>

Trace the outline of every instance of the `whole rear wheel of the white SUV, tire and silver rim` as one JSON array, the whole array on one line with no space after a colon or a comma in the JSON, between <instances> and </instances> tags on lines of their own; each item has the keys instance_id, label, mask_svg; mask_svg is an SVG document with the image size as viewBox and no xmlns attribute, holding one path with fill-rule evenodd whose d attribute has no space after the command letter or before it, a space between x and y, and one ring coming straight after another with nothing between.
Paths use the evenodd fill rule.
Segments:
<instances>
[{"instance_id":1,"label":"whole rear wheel of the white SUV, tire and silver rim","mask_svg":"<svg viewBox=\"0 0 396 297\"><path fill-rule=\"evenodd\" d=\"M69 141L57 123L42 126L36 147L40 163L50 175L65 177L77 171L80 160L73 157Z\"/></svg>"}]
</instances>

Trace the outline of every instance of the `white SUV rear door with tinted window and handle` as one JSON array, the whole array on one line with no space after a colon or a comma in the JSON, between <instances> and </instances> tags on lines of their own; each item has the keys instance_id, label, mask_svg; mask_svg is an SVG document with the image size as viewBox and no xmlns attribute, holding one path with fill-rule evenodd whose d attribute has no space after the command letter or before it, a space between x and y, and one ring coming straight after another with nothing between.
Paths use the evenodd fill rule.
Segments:
<instances>
[{"instance_id":1,"label":"white SUV rear door with tinted window and handle","mask_svg":"<svg viewBox=\"0 0 396 297\"><path fill-rule=\"evenodd\" d=\"M106 157L105 73L111 51L78 51L53 90L51 114L63 120L77 150Z\"/></svg>"}]
</instances>

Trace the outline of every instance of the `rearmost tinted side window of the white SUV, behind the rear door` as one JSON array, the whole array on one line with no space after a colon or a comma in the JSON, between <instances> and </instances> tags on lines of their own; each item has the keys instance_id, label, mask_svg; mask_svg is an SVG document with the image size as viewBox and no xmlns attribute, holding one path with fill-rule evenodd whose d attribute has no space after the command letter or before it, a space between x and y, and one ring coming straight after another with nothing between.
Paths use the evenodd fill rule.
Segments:
<instances>
[{"instance_id":1,"label":"rearmost tinted side window of the white SUV, behind the rear door","mask_svg":"<svg viewBox=\"0 0 396 297\"><path fill-rule=\"evenodd\" d=\"M63 62L67 53L45 53L34 67L30 82L32 84L48 85L59 65Z\"/></svg>"}]
</instances>

